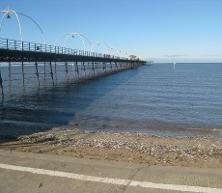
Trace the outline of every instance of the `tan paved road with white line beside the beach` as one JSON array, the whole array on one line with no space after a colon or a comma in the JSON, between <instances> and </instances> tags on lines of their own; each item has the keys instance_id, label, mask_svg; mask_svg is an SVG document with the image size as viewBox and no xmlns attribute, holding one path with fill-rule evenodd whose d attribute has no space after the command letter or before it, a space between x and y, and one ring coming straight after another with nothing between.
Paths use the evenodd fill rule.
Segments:
<instances>
[{"instance_id":1,"label":"tan paved road with white line beside the beach","mask_svg":"<svg viewBox=\"0 0 222 193\"><path fill-rule=\"evenodd\" d=\"M222 193L222 170L0 150L0 193Z\"/></svg>"}]
</instances>

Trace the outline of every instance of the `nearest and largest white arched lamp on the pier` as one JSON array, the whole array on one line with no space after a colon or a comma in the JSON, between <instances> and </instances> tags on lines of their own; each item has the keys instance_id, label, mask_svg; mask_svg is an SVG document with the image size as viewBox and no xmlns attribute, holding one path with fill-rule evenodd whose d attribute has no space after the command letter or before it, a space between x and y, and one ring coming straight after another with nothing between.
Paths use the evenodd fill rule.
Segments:
<instances>
[{"instance_id":1,"label":"nearest and largest white arched lamp on the pier","mask_svg":"<svg viewBox=\"0 0 222 193\"><path fill-rule=\"evenodd\" d=\"M9 8L2 10L1 14L2 14L2 19L1 19L1 23L0 23L0 32L2 31L3 21L5 19L11 19L12 16L15 15L16 21L17 21L17 24L18 24L18 27L19 27L20 40L21 40L21 43L22 43L22 41L23 41L23 34L22 34L23 29L22 29L22 26L21 26L21 19L20 19L20 17L23 16L23 17L28 18L32 23L34 23L37 26L37 28L39 29L39 31L40 31L40 33L42 35L43 41L45 43L45 37L44 37L44 33L43 33L42 28L39 25L39 23L36 22L32 17L30 17L30 16L28 16L28 15L26 15L24 13L17 12L14 9L9 9Z\"/></svg>"}]
</instances>

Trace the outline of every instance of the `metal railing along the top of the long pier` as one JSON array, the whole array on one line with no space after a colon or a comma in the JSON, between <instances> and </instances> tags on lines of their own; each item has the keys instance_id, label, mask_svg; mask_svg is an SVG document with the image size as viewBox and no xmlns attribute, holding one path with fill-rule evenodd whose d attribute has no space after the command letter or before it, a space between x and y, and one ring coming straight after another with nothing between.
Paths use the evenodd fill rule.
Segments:
<instances>
[{"instance_id":1,"label":"metal railing along the top of the long pier","mask_svg":"<svg viewBox=\"0 0 222 193\"><path fill-rule=\"evenodd\" d=\"M65 48L49 44L41 44L20 40L11 40L0 37L0 48L8 50L18 50L18 51L30 51L30 52L44 52L53 54L64 54L64 55L76 55L76 56L88 56L88 57L99 57L99 58L112 58L112 59L123 59L127 60L125 57L119 57L109 54L101 54L97 52L84 51L72 48Z\"/></svg>"}]
</instances>

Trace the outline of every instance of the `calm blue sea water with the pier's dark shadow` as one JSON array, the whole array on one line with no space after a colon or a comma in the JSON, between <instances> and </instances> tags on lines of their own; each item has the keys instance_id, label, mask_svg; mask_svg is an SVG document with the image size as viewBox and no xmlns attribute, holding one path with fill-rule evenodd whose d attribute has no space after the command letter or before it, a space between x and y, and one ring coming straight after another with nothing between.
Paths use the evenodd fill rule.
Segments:
<instances>
[{"instance_id":1,"label":"calm blue sea water with the pier's dark shadow","mask_svg":"<svg viewBox=\"0 0 222 193\"><path fill-rule=\"evenodd\" d=\"M20 76L16 72L14 77ZM93 131L222 136L222 64L177 64L175 69L153 64L81 84L70 77L54 87L49 77L38 87L30 76L23 89L17 79L5 83L6 92L14 94L0 108L0 135L75 125Z\"/></svg>"}]
</instances>

